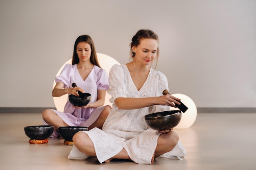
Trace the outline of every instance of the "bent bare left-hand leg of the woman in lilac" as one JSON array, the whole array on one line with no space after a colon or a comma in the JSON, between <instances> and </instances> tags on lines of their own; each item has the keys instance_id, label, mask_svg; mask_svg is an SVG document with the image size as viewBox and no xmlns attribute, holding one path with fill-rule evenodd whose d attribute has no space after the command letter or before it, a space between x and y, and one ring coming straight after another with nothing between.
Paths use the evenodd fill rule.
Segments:
<instances>
[{"instance_id":1,"label":"bent bare left-hand leg of the woman in lilac","mask_svg":"<svg viewBox=\"0 0 256 170\"><path fill-rule=\"evenodd\" d=\"M68 126L65 121L61 119L54 111L51 109L45 109L42 113L43 119L47 124L53 125L54 129L57 129L61 126Z\"/></svg>"}]
</instances>

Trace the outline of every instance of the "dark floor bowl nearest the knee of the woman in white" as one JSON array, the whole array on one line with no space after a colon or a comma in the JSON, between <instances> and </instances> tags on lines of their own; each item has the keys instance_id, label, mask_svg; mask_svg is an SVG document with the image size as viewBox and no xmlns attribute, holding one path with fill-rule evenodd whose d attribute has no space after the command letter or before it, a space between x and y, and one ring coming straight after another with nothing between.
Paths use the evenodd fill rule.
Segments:
<instances>
[{"instance_id":1,"label":"dark floor bowl nearest the knee of the woman in white","mask_svg":"<svg viewBox=\"0 0 256 170\"><path fill-rule=\"evenodd\" d=\"M73 141L76 132L87 131L88 127L84 126L62 126L58 128L58 132L65 141Z\"/></svg>"}]
</instances>

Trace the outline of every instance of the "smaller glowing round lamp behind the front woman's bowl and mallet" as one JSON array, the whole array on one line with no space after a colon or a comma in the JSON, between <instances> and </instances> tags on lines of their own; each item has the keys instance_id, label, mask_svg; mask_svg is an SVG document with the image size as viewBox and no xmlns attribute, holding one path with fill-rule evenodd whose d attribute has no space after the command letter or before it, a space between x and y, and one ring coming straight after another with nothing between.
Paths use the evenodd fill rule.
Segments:
<instances>
[{"instance_id":1,"label":"smaller glowing round lamp behind the front woman's bowl and mallet","mask_svg":"<svg viewBox=\"0 0 256 170\"><path fill-rule=\"evenodd\" d=\"M175 128L189 128L195 122L198 113L195 103L190 97L184 94L176 93L173 94L173 96L181 99L182 103L184 103L188 107L188 110L185 113L182 113L180 123ZM179 110L178 108L173 107L171 107L170 109Z\"/></svg>"}]
</instances>

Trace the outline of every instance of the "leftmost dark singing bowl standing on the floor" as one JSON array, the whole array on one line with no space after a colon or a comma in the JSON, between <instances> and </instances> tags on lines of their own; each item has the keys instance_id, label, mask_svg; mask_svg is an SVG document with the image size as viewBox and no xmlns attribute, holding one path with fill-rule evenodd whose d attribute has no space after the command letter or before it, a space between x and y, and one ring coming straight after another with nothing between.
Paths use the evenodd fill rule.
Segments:
<instances>
[{"instance_id":1,"label":"leftmost dark singing bowl standing on the floor","mask_svg":"<svg viewBox=\"0 0 256 170\"><path fill-rule=\"evenodd\" d=\"M36 140L48 139L52 135L53 130L53 126L50 125L24 127L24 131L27 137Z\"/></svg>"}]
</instances>

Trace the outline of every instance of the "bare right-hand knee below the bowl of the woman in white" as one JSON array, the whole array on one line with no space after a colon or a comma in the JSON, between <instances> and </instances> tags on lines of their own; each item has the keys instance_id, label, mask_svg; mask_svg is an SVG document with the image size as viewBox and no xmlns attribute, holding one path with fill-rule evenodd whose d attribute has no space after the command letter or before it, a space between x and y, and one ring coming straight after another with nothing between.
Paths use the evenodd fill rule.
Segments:
<instances>
[{"instance_id":1,"label":"bare right-hand knee below the bowl of the woman in white","mask_svg":"<svg viewBox=\"0 0 256 170\"><path fill-rule=\"evenodd\" d=\"M176 132L167 132L159 135L157 140L157 147L155 149L155 157L159 157L166 152L173 150L179 141L179 136Z\"/></svg>"}]
</instances>

